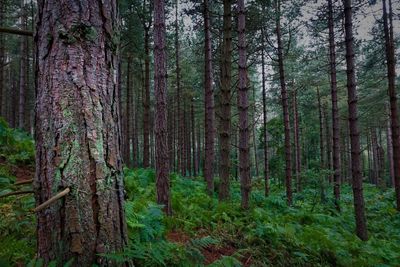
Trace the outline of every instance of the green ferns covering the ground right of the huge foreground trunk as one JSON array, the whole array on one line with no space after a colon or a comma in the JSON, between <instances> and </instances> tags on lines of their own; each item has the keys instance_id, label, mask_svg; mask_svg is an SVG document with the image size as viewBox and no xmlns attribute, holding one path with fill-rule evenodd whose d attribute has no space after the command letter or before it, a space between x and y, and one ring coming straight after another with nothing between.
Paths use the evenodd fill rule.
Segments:
<instances>
[{"instance_id":1,"label":"green ferns covering the ground right of the huge foreground trunk","mask_svg":"<svg viewBox=\"0 0 400 267\"><path fill-rule=\"evenodd\" d=\"M398 266L400 217L393 208L393 191L365 186L371 238L362 242L354 234L351 187L343 185L339 214L325 182L330 174L318 169L304 173L307 187L295 195L293 207L287 206L282 189L273 186L271 196L265 197L262 181L254 180L249 211L240 209L237 182L231 201L219 203L205 193L203 178L173 174L173 216L165 218L154 204L154 172L127 170L125 185L131 193L126 213L135 240L129 258L138 263L146 259L153 266L202 265L203 249L218 239L218 247L232 246L236 252L221 255L211 266L241 266L247 259L253 266ZM184 231L193 239L184 246L171 243L164 238L170 231ZM197 238L201 236L206 238Z\"/></svg>"}]
</instances>

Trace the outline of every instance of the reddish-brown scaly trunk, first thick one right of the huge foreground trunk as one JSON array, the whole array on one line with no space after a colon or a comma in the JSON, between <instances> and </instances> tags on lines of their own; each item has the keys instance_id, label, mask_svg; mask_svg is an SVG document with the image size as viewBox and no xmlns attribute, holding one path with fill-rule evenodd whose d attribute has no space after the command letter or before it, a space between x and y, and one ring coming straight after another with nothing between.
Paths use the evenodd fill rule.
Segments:
<instances>
[{"instance_id":1,"label":"reddish-brown scaly trunk, first thick one right of the huge foreground trunk","mask_svg":"<svg viewBox=\"0 0 400 267\"><path fill-rule=\"evenodd\" d=\"M154 132L156 138L157 203L171 215L169 192L169 164L167 137L167 55L165 6L163 0L154 0L154 93L156 99Z\"/></svg>"}]
</instances>

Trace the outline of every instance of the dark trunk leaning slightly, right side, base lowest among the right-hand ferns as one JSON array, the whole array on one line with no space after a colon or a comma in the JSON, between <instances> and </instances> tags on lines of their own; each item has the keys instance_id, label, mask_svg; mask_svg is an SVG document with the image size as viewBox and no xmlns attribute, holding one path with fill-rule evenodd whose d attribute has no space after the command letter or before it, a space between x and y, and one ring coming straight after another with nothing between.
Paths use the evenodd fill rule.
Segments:
<instances>
[{"instance_id":1,"label":"dark trunk leaning slightly, right side, base lowest among the right-hand ferns","mask_svg":"<svg viewBox=\"0 0 400 267\"><path fill-rule=\"evenodd\" d=\"M344 0L347 93L349 105L349 130L351 143L351 174L356 219L356 232L361 240L368 239L367 219L363 194L363 179L360 168L360 132L358 129L357 89L354 64L353 22L351 0Z\"/></svg>"}]
</instances>

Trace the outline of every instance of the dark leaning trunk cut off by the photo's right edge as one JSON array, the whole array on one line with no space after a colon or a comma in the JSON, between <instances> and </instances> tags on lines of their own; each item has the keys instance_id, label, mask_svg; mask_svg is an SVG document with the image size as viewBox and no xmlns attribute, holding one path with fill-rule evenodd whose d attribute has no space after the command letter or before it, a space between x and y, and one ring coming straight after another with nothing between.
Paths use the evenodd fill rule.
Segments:
<instances>
[{"instance_id":1,"label":"dark leaning trunk cut off by the photo's right edge","mask_svg":"<svg viewBox=\"0 0 400 267\"><path fill-rule=\"evenodd\" d=\"M396 95L396 55L393 36L392 1L389 0L389 18L386 11L386 0L383 4L383 27L385 32L388 88L390 99L390 122L392 127L394 183L397 210L400 211L400 126ZM388 19L390 27L388 26Z\"/></svg>"}]
</instances>

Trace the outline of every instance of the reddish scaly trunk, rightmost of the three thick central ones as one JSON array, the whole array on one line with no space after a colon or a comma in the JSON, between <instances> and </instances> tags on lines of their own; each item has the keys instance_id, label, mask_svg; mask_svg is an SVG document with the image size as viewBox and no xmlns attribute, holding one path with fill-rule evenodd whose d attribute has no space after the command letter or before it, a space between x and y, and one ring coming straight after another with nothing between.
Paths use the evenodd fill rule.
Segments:
<instances>
[{"instance_id":1,"label":"reddish scaly trunk, rightmost of the three thick central ones","mask_svg":"<svg viewBox=\"0 0 400 267\"><path fill-rule=\"evenodd\" d=\"M247 58L246 58L246 18L244 0L238 0L238 49L239 49L239 85L238 85L238 110L239 110L239 175L240 190L242 194L242 208L249 208L251 191L250 177L250 147L249 147L249 99L247 86Z\"/></svg>"}]
</instances>

